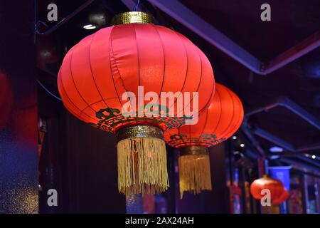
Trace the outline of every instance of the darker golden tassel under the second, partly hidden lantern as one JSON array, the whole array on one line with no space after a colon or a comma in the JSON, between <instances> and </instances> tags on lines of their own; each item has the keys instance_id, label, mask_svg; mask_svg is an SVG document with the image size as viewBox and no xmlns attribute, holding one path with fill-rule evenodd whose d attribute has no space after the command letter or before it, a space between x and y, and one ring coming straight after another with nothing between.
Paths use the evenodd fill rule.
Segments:
<instances>
[{"instance_id":1,"label":"darker golden tassel under the second, partly hidden lantern","mask_svg":"<svg viewBox=\"0 0 320 228\"><path fill-rule=\"evenodd\" d=\"M212 190L209 155L181 155L178 164L181 199L185 191L196 195Z\"/></svg>"}]
</instances>

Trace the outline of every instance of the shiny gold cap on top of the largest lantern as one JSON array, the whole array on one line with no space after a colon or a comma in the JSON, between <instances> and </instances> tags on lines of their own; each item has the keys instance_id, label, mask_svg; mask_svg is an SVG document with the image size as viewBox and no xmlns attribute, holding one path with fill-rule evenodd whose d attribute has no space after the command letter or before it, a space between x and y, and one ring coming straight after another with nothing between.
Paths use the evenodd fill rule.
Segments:
<instances>
[{"instance_id":1,"label":"shiny gold cap on top of the largest lantern","mask_svg":"<svg viewBox=\"0 0 320 228\"><path fill-rule=\"evenodd\" d=\"M154 24L154 17L146 12L130 11L114 16L111 21L112 26L133 23Z\"/></svg>"}]
</instances>

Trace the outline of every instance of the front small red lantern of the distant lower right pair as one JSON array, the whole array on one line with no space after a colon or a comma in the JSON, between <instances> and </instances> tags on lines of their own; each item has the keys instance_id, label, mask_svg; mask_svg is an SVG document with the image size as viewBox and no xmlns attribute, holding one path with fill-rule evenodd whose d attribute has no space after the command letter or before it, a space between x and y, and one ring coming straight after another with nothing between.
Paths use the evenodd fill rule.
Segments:
<instances>
[{"instance_id":1,"label":"front small red lantern of the distant lower right pair","mask_svg":"<svg viewBox=\"0 0 320 228\"><path fill-rule=\"evenodd\" d=\"M280 180L267 176L255 180L250 185L251 195L255 199L262 199L265 195L261 194L261 191L265 189L270 190L270 198L272 202L274 199L278 199L284 192L284 186Z\"/></svg>"}]
</instances>

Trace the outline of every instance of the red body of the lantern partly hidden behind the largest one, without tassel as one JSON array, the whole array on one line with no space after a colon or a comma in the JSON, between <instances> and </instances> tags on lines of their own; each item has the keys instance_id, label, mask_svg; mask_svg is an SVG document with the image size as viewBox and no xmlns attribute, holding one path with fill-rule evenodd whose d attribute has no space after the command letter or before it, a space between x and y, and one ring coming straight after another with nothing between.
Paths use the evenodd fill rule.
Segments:
<instances>
[{"instance_id":1,"label":"red body of the lantern partly hidden behind the largest one, without tassel","mask_svg":"<svg viewBox=\"0 0 320 228\"><path fill-rule=\"evenodd\" d=\"M233 91L216 83L213 100L208 109L199 115L198 123L168 130L164 133L164 139L176 148L189 145L211 147L230 138L242 120L241 100Z\"/></svg>"}]
</instances>

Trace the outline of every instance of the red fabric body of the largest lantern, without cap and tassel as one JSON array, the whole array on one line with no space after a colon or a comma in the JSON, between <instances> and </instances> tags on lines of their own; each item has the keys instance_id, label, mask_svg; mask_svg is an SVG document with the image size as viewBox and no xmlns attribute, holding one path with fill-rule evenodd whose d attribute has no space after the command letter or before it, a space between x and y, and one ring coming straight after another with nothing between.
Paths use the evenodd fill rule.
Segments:
<instances>
[{"instance_id":1,"label":"red fabric body of the largest lantern, without cap and tassel","mask_svg":"<svg viewBox=\"0 0 320 228\"><path fill-rule=\"evenodd\" d=\"M201 112L215 82L210 62L198 47L180 33L154 24L112 26L85 37L68 51L58 76L65 107L102 130L116 133L127 125L166 130L183 123L183 118L124 118L122 94L131 91L138 98L138 86L144 86L144 94L198 91Z\"/></svg>"}]
</instances>

